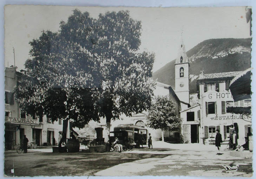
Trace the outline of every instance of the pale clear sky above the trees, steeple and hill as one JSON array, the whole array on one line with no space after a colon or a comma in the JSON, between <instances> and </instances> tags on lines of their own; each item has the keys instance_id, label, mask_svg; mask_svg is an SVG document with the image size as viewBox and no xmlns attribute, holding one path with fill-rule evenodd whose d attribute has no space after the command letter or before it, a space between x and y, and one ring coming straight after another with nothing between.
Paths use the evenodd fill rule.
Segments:
<instances>
[{"instance_id":1,"label":"pale clear sky above the trees, steeple and hill","mask_svg":"<svg viewBox=\"0 0 256 179\"><path fill-rule=\"evenodd\" d=\"M155 53L153 71L177 57L181 32L186 51L210 38L248 38L249 23L245 7L74 7L74 6L5 6L5 67L24 68L31 46L42 30L56 32L60 21L67 21L73 9L89 12L93 18L106 11L129 10L130 16L142 22L139 52Z\"/></svg>"}]
</instances>

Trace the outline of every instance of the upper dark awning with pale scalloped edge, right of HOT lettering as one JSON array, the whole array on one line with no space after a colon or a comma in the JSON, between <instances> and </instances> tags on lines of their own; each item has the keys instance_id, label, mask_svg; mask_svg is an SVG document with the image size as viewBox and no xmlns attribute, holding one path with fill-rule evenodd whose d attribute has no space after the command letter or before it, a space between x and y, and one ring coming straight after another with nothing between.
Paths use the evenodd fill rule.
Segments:
<instances>
[{"instance_id":1,"label":"upper dark awning with pale scalloped edge, right of HOT lettering","mask_svg":"<svg viewBox=\"0 0 256 179\"><path fill-rule=\"evenodd\" d=\"M230 81L229 88L234 101L251 98L251 69L243 71Z\"/></svg>"}]
</instances>

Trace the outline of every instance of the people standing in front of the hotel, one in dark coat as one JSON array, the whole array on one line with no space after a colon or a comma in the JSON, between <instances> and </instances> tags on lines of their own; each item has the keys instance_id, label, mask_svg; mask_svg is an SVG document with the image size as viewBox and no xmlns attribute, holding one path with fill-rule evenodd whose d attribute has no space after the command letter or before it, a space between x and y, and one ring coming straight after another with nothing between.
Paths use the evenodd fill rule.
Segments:
<instances>
[{"instance_id":1,"label":"people standing in front of the hotel, one in dark coat","mask_svg":"<svg viewBox=\"0 0 256 179\"><path fill-rule=\"evenodd\" d=\"M237 123L231 124L229 127L229 148L231 150L242 150L240 149L242 146L237 145L238 139L238 126ZM219 133L219 129L216 130L216 137L215 137L215 146L217 146L218 151L221 151L221 143L222 143L222 136ZM217 153L218 155L221 153Z\"/></svg>"}]
</instances>

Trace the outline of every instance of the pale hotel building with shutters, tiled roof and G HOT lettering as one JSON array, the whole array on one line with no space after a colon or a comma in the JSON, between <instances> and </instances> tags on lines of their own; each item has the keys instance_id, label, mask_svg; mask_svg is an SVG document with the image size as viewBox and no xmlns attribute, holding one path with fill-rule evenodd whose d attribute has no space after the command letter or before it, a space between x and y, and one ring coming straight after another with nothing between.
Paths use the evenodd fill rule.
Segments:
<instances>
[{"instance_id":1,"label":"pale hotel building with shutters, tiled roof and G HOT lettering","mask_svg":"<svg viewBox=\"0 0 256 179\"><path fill-rule=\"evenodd\" d=\"M251 99L234 101L230 92L230 81L242 72L204 74L197 80L198 99L200 100L199 143L214 144L215 131L219 129L222 141L229 141L229 126L238 126L238 144L245 143L251 133L251 117L232 113L230 107L251 106ZM199 109L199 108L198 108ZM196 110L195 110L196 111Z\"/></svg>"}]
</instances>

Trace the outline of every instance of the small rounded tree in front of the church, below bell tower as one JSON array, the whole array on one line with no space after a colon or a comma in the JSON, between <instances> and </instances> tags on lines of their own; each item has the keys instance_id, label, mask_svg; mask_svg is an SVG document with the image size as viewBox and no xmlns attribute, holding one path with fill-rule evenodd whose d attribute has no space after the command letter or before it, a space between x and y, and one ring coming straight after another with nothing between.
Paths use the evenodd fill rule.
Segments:
<instances>
[{"instance_id":1,"label":"small rounded tree in front of the church, below bell tower","mask_svg":"<svg viewBox=\"0 0 256 179\"><path fill-rule=\"evenodd\" d=\"M148 127L162 130L162 141L164 141L164 130L178 130L182 122L176 115L175 104L168 96L157 96L146 118Z\"/></svg>"}]
</instances>

